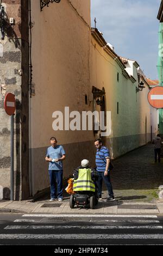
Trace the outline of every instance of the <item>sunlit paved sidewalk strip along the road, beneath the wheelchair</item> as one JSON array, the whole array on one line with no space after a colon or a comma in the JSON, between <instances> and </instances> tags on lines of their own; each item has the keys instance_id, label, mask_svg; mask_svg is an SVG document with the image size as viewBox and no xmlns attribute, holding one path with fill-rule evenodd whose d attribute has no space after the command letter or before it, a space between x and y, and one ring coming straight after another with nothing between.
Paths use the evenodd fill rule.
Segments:
<instances>
[{"instance_id":1,"label":"sunlit paved sidewalk strip along the road, beneath the wheelchair","mask_svg":"<svg viewBox=\"0 0 163 256\"><path fill-rule=\"evenodd\" d=\"M126 203L123 201L105 202L101 200L95 209L74 208L69 206L69 199L62 202L49 200L32 202L24 201L0 201L0 213L27 213L27 214L146 214L163 215L163 200L155 203Z\"/></svg>"}]
</instances>

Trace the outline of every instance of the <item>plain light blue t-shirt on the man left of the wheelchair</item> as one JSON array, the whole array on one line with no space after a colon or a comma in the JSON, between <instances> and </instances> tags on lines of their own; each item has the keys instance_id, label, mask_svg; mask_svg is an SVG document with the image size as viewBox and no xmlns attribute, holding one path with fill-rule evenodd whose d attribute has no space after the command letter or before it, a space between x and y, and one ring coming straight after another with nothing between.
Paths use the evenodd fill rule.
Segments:
<instances>
[{"instance_id":1,"label":"plain light blue t-shirt on the man left of the wheelchair","mask_svg":"<svg viewBox=\"0 0 163 256\"><path fill-rule=\"evenodd\" d=\"M51 159L59 159L65 155L65 150L61 145L57 145L57 147L53 148L52 146L47 149L46 156ZM59 162L49 162L49 170L62 170L63 163L62 161Z\"/></svg>"}]
</instances>

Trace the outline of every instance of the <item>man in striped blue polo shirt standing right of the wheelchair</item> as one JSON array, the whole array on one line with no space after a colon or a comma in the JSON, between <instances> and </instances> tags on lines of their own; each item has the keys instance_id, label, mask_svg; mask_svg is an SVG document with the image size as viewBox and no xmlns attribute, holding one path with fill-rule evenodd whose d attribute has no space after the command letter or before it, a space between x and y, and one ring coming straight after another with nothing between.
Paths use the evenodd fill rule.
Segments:
<instances>
[{"instance_id":1,"label":"man in striped blue polo shirt standing right of the wheelchair","mask_svg":"<svg viewBox=\"0 0 163 256\"><path fill-rule=\"evenodd\" d=\"M108 188L109 198L106 201L114 201L114 193L112 191L112 185L110 181L109 173L109 149L102 145L101 139L95 140L96 152L96 167L98 172L98 197L102 199L102 182L104 180L106 187Z\"/></svg>"}]
</instances>

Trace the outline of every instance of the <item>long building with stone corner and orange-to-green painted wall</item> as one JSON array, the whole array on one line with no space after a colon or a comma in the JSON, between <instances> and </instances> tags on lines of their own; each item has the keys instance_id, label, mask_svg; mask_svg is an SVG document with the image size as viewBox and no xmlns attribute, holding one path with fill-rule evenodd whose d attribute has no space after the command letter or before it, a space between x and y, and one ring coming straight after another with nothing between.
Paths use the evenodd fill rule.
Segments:
<instances>
[{"instance_id":1,"label":"long building with stone corner and orange-to-green painted wall","mask_svg":"<svg viewBox=\"0 0 163 256\"><path fill-rule=\"evenodd\" d=\"M40 0L2 1L5 33L0 40L0 186L3 198L10 198L10 118L3 108L8 92L16 96L16 200L34 196L49 186L45 155L52 136L66 151L64 178L67 178L82 159L89 159L91 166L95 166L95 138L102 137L115 159L151 141L157 130L157 111L147 102L149 84L140 74L139 64L117 56L98 29L91 28L90 1L56 2L47 7L46 1ZM13 24L10 18L14 18ZM145 87L142 92L141 81ZM83 124L82 114L87 117L94 111L103 111L104 115L97 115L98 129L93 121L92 129L88 129L89 122ZM102 123L106 126L104 130Z\"/></svg>"}]
</instances>

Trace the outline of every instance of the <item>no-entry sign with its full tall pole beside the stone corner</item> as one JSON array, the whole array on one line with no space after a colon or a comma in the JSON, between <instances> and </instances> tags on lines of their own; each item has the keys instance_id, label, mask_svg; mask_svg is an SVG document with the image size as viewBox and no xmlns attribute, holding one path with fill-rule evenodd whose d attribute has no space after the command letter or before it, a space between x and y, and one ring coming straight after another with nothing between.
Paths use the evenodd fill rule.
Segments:
<instances>
[{"instance_id":1,"label":"no-entry sign with its full tall pole beside the stone corner","mask_svg":"<svg viewBox=\"0 0 163 256\"><path fill-rule=\"evenodd\" d=\"M15 95L8 93L4 99L5 112L11 116L11 165L10 165L10 200L14 200L14 113Z\"/></svg>"}]
</instances>

